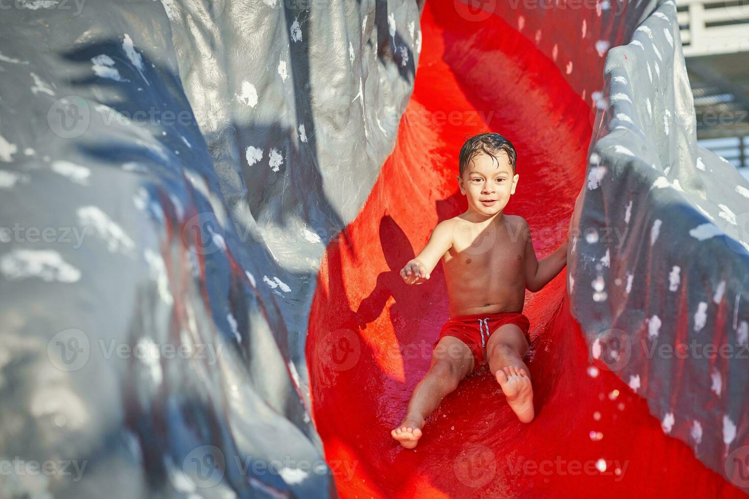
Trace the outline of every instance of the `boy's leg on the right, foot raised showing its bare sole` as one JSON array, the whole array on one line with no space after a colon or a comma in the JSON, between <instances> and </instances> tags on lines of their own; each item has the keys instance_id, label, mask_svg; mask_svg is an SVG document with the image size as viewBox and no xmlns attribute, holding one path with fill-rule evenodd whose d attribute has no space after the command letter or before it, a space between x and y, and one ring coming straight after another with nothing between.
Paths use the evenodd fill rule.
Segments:
<instances>
[{"instance_id":1,"label":"boy's leg on the right, foot raised showing its bare sole","mask_svg":"<svg viewBox=\"0 0 749 499\"><path fill-rule=\"evenodd\" d=\"M489 369L502 387L510 408L523 423L530 423L534 416L530 370L523 362L528 346L523 331L515 324L497 328L486 346Z\"/></svg>"}]
</instances>

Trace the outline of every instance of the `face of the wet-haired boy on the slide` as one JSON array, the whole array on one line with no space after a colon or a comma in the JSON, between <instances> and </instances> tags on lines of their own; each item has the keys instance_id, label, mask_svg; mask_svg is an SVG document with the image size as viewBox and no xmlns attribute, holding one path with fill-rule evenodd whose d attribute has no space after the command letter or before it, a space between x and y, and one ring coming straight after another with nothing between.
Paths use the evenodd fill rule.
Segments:
<instances>
[{"instance_id":1,"label":"face of the wet-haired boy on the slide","mask_svg":"<svg viewBox=\"0 0 749 499\"><path fill-rule=\"evenodd\" d=\"M518 174L512 175L507 153L502 151L494 159L482 152L473 157L462 178L458 175L458 185L470 208L491 216L507 206L510 196L515 194L518 178Z\"/></svg>"}]
</instances>

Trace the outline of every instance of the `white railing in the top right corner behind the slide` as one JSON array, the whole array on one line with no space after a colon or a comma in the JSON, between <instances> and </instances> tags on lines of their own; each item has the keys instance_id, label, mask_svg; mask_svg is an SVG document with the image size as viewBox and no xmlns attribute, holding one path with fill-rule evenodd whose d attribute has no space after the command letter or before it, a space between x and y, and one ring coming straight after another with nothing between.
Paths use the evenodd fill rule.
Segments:
<instances>
[{"instance_id":1,"label":"white railing in the top right corner behind the slide","mask_svg":"<svg viewBox=\"0 0 749 499\"><path fill-rule=\"evenodd\" d=\"M676 0L676 6L687 7L677 14L685 57L749 51L749 1Z\"/></svg>"}]
</instances>

